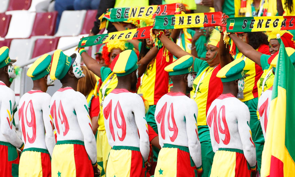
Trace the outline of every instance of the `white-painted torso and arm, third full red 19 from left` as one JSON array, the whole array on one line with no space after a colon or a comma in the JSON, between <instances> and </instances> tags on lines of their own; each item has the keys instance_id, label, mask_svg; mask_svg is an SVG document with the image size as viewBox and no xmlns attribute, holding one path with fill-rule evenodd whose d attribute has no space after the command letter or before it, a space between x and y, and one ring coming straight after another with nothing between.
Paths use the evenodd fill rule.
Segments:
<instances>
[{"instance_id":1,"label":"white-painted torso and arm, third full red 19 from left","mask_svg":"<svg viewBox=\"0 0 295 177\"><path fill-rule=\"evenodd\" d=\"M142 98L126 89L114 89L104 99L103 112L109 145L140 148L143 159L148 160L150 142Z\"/></svg>"}]
</instances>

